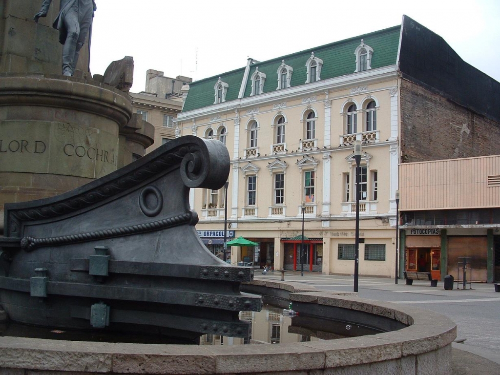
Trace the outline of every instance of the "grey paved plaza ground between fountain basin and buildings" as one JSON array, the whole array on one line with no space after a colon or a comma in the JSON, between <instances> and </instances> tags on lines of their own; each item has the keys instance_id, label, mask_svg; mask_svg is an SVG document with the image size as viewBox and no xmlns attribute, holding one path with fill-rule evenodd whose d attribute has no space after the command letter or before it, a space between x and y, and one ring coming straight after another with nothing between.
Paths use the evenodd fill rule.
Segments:
<instances>
[{"instance_id":1,"label":"grey paved plaza ground between fountain basin and buildings","mask_svg":"<svg viewBox=\"0 0 500 375\"><path fill-rule=\"evenodd\" d=\"M255 279L280 280L281 272L269 271L263 275L255 270ZM318 290L353 291L352 275L324 275L317 272L287 271L285 281L301 282ZM457 286L459 287L457 289ZM494 285L453 283L452 290L444 290L443 282L430 287L429 281L414 280L406 285L404 279L395 284L393 278L360 276L358 295L360 298L414 303L448 316L457 324L457 340L452 343L453 374L500 375L500 293Z\"/></svg>"}]
</instances>

